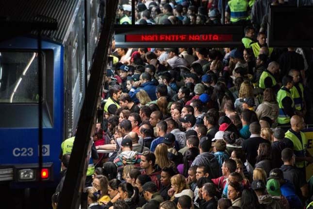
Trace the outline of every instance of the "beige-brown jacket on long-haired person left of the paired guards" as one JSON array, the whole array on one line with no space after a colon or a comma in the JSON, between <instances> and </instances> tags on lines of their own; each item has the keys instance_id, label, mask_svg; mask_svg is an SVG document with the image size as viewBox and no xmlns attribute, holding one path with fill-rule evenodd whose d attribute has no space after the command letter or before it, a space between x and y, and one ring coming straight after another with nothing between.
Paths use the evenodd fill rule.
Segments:
<instances>
[{"instance_id":1,"label":"beige-brown jacket on long-haired person left of the paired guards","mask_svg":"<svg viewBox=\"0 0 313 209\"><path fill-rule=\"evenodd\" d=\"M272 120L276 120L279 113L278 103L264 101L258 106L255 113L257 113L258 118L266 116L271 118Z\"/></svg>"}]
</instances>

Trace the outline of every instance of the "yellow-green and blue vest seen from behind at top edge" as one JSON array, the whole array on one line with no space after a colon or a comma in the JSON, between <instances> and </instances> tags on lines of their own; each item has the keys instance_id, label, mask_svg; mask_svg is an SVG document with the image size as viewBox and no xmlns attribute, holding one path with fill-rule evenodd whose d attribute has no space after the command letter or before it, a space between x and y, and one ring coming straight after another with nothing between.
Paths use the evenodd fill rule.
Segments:
<instances>
[{"instance_id":1,"label":"yellow-green and blue vest seen from behind at top edge","mask_svg":"<svg viewBox=\"0 0 313 209\"><path fill-rule=\"evenodd\" d=\"M231 22L247 19L249 7L247 0L230 0L228 6L231 10Z\"/></svg>"}]
</instances>

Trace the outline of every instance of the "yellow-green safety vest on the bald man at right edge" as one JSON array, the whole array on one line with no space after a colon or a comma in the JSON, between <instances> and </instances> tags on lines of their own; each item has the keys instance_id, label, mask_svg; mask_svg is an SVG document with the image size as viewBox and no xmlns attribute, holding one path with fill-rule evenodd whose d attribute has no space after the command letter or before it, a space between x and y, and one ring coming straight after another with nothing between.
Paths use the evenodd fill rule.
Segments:
<instances>
[{"instance_id":1,"label":"yellow-green safety vest on the bald man at right edge","mask_svg":"<svg viewBox=\"0 0 313 209\"><path fill-rule=\"evenodd\" d=\"M290 139L290 141L294 144L294 153L297 157L305 157L306 148L307 148L307 138L305 134L301 131L300 131L300 135L301 135L301 139L299 139L295 134L293 134L291 131L288 130L285 133L285 138ZM306 161L297 161L296 167L298 168L306 167Z\"/></svg>"}]
</instances>

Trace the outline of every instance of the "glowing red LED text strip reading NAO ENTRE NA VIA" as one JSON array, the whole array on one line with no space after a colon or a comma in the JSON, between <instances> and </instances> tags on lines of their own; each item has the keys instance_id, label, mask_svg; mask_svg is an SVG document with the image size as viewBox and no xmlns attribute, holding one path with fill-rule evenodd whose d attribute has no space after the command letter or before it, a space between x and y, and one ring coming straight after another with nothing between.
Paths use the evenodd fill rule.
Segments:
<instances>
[{"instance_id":1,"label":"glowing red LED text strip reading NAO ENTRE NA VIA","mask_svg":"<svg viewBox=\"0 0 313 209\"><path fill-rule=\"evenodd\" d=\"M232 41L232 34L128 34L125 42L221 42Z\"/></svg>"}]
</instances>

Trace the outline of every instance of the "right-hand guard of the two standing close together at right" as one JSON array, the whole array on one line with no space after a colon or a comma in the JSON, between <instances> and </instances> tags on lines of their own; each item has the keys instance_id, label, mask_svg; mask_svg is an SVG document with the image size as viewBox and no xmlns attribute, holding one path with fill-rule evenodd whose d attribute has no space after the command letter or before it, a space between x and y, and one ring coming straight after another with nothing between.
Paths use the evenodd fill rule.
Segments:
<instances>
[{"instance_id":1,"label":"right-hand guard of the two standing close together at right","mask_svg":"<svg viewBox=\"0 0 313 209\"><path fill-rule=\"evenodd\" d=\"M291 69L289 71L289 76L292 76L294 81L294 86L292 87L292 89L290 89L290 92L295 102L295 109L297 113L304 116L306 113L306 108L303 93L304 88L302 83L300 82L300 72L295 69Z\"/></svg>"}]
</instances>

